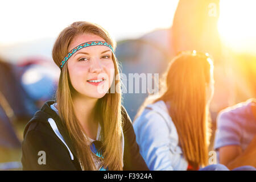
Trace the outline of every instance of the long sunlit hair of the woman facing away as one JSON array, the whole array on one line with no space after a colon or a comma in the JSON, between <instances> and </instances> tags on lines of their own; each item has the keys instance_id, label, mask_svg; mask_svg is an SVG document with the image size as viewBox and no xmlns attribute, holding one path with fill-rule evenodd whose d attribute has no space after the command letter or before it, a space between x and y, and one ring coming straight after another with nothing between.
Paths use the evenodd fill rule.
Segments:
<instances>
[{"instance_id":1,"label":"long sunlit hair of the woman facing away","mask_svg":"<svg viewBox=\"0 0 256 182\"><path fill-rule=\"evenodd\" d=\"M185 159L193 166L208 164L209 106L206 84L210 83L212 60L203 53L184 51L168 65L160 81L160 94L143 102L144 107L160 100L170 103L169 114L174 122Z\"/></svg>"}]
</instances>

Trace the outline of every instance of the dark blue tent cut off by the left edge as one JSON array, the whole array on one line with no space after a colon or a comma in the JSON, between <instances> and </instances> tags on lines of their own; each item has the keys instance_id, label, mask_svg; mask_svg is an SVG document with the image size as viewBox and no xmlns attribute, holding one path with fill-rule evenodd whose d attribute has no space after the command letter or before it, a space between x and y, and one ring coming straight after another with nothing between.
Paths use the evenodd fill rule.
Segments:
<instances>
[{"instance_id":1,"label":"dark blue tent cut off by the left edge","mask_svg":"<svg viewBox=\"0 0 256 182\"><path fill-rule=\"evenodd\" d=\"M19 148L20 141L12 125L28 115L24 107L23 90L13 73L13 65L0 60L0 147ZM10 114L11 113L11 114Z\"/></svg>"}]
</instances>

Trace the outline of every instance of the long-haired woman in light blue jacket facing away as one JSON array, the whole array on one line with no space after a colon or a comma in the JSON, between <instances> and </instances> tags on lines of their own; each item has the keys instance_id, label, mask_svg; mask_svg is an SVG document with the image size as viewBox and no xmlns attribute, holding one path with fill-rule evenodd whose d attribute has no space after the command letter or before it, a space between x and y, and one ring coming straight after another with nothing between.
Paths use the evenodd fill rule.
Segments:
<instances>
[{"instance_id":1,"label":"long-haired woman in light blue jacket facing away","mask_svg":"<svg viewBox=\"0 0 256 182\"><path fill-rule=\"evenodd\" d=\"M181 52L163 78L162 93L148 97L135 117L141 154L150 170L207 166L212 60L196 51Z\"/></svg>"}]
</instances>

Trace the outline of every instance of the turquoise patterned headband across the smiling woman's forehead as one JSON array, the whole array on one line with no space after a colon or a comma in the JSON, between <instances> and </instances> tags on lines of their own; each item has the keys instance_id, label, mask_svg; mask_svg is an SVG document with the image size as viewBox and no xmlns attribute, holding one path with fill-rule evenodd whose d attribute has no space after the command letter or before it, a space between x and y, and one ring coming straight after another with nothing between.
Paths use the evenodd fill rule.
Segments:
<instances>
[{"instance_id":1,"label":"turquoise patterned headband across the smiling woman's forehead","mask_svg":"<svg viewBox=\"0 0 256 182\"><path fill-rule=\"evenodd\" d=\"M96 40L96 41L85 42L85 43L82 43L79 46L73 48L64 57L64 59L60 63L60 70L63 68L64 64L68 61L69 57L71 57L75 52L79 51L82 48L89 47L89 46L108 46L112 50L112 52L114 53L114 50L113 50L112 46L109 43L106 43L105 41Z\"/></svg>"}]
</instances>

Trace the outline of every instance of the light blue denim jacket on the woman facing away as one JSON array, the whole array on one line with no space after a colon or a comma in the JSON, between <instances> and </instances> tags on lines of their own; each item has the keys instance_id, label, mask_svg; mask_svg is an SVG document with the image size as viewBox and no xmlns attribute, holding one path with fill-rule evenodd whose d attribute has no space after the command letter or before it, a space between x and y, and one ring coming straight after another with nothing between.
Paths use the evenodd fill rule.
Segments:
<instances>
[{"instance_id":1,"label":"light blue denim jacket on the woman facing away","mask_svg":"<svg viewBox=\"0 0 256 182\"><path fill-rule=\"evenodd\" d=\"M150 170L187 170L188 162L164 101L147 105L133 126L141 155Z\"/></svg>"}]
</instances>

